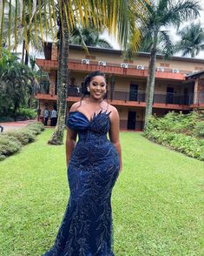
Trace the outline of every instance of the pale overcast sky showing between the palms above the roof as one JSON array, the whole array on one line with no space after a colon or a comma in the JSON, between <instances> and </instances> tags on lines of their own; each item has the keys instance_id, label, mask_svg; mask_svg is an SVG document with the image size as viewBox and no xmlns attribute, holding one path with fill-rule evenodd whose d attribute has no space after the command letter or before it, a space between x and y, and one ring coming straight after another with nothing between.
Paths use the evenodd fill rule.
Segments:
<instances>
[{"instance_id":1,"label":"pale overcast sky showing between the palms above the roof","mask_svg":"<svg viewBox=\"0 0 204 256\"><path fill-rule=\"evenodd\" d=\"M200 3L201 3L201 7L203 10L201 10L201 17L198 18L196 21L201 21L201 24L203 26L203 30L204 30L204 0L200 0ZM185 25L188 25L190 24L191 22L188 22L188 23L185 23L183 24L181 27L184 27ZM169 30L169 34L171 35L172 38L174 38L174 42L179 40L179 37L176 35L176 30L171 27L171 28L168 28ZM107 32L104 32L102 37L105 37L107 39L107 41L114 47L114 49L120 49L120 45L117 43L117 40L115 39L115 37L110 37L109 34ZM177 56L181 56L180 53L176 54ZM199 55L196 56L196 58L204 58L204 51L200 52Z\"/></svg>"}]
</instances>

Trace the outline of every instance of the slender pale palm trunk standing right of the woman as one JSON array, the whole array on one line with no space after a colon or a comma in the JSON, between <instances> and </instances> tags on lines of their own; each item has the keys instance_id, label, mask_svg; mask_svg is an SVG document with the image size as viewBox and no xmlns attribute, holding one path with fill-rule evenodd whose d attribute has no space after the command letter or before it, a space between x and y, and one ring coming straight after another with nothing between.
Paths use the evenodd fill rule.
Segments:
<instances>
[{"instance_id":1,"label":"slender pale palm trunk standing right of the woman","mask_svg":"<svg viewBox=\"0 0 204 256\"><path fill-rule=\"evenodd\" d=\"M148 82L146 88L146 109L145 109L145 124L144 130L148 127L148 119L152 115L152 105L155 92L155 62L156 62L156 49L152 49L150 54L148 66Z\"/></svg>"}]
</instances>

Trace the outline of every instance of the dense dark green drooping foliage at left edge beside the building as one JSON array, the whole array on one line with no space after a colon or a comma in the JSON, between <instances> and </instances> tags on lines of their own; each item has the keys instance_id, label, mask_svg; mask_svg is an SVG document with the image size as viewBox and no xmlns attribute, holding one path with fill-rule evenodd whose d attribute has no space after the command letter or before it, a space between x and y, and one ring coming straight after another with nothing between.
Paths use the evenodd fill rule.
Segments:
<instances>
[{"instance_id":1,"label":"dense dark green drooping foliage at left edge beside the building","mask_svg":"<svg viewBox=\"0 0 204 256\"><path fill-rule=\"evenodd\" d=\"M26 105L26 99L35 86L35 76L30 68L21 64L15 54L9 57L8 51L3 51L0 60L0 115L12 112L16 117L16 111Z\"/></svg>"}]
</instances>

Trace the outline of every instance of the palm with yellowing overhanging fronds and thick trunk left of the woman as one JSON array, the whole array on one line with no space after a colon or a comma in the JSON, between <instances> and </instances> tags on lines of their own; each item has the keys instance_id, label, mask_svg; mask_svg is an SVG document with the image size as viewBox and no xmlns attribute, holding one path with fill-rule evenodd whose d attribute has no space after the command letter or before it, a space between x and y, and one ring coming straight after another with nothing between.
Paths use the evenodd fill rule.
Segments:
<instances>
[{"instance_id":1,"label":"palm with yellowing overhanging fronds and thick trunk left of the woman","mask_svg":"<svg viewBox=\"0 0 204 256\"><path fill-rule=\"evenodd\" d=\"M3 0L3 3L5 0ZM10 0L11 2L11 0ZM16 12L15 12L15 44L16 42L16 30L21 27L22 24L26 24L26 6L32 9L32 3L36 1L16 0ZM42 26L43 21L41 14L43 12L42 7L47 3L46 0L38 0L39 4L39 25ZM41 4L43 3L43 5ZM49 17L45 19L45 33L49 33L48 24L50 27L53 40L55 39L56 23L59 26L59 58L58 58L58 75L57 75L57 88L58 88L58 118L56 130L52 137L49 139L50 144L63 144L63 130L64 120L66 114L66 88L69 80L68 76L68 57L69 57L69 37L72 30L76 27L86 26L89 27L89 17L92 17L93 24L96 30L100 32L107 28L109 33L114 33L119 40L122 47L125 47L128 37L131 38L131 47L136 51L140 40L140 30L138 29L138 21L145 21L147 17L148 0L49 0ZM20 7L20 8L19 8ZM56 16L56 9L58 9L59 15ZM10 10L10 6L9 6ZM31 13L31 12L30 12ZM17 18L19 17L19 18ZM11 24L11 18L9 18L9 24ZM36 22L35 22L36 24ZM53 25L55 24L55 26ZM3 24L1 24L3 25ZM28 44L28 38L26 34L26 26L24 25L23 36L26 44ZM9 31L9 38L11 31ZM136 35L136 36L135 36ZM9 41L10 43L10 41ZM0 37L1 45L1 37ZM10 44L9 44L10 48ZM0 48L1 55L1 48Z\"/></svg>"}]
</instances>

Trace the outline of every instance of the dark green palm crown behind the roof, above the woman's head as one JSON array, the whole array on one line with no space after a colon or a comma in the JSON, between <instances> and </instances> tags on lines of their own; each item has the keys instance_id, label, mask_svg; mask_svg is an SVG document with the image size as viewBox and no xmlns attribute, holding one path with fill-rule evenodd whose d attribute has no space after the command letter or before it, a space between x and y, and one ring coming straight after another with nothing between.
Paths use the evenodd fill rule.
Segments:
<instances>
[{"instance_id":1,"label":"dark green palm crown behind the roof, above the woman's head","mask_svg":"<svg viewBox=\"0 0 204 256\"><path fill-rule=\"evenodd\" d=\"M99 31L95 30L93 24L89 24L89 28L76 27L71 34L69 44L86 44L86 46L113 48L106 39L101 37Z\"/></svg>"}]
</instances>

